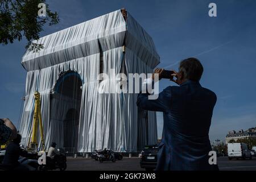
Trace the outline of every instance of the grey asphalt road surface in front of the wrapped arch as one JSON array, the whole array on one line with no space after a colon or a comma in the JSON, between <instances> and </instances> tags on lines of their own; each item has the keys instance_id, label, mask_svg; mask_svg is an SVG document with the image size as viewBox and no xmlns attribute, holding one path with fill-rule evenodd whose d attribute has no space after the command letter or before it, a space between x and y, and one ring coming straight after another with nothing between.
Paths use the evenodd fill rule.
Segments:
<instances>
[{"instance_id":1,"label":"grey asphalt road surface in front of the wrapped arch","mask_svg":"<svg viewBox=\"0 0 256 182\"><path fill-rule=\"evenodd\" d=\"M123 158L113 162L100 163L94 159L69 158L67 160L67 170L72 171L141 171L144 170L139 165L139 158ZM256 170L256 158L252 160L228 160L227 157L217 158L218 167L221 171L251 171Z\"/></svg>"}]
</instances>

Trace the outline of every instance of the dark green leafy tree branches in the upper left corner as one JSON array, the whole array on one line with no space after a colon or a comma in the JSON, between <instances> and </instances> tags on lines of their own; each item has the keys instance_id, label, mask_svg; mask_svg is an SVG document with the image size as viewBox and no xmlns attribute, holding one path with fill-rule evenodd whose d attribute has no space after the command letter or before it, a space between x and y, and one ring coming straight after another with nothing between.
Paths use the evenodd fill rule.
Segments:
<instances>
[{"instance_id":1,"label":"dark green leafy tree branches in the upper left corner","mask_svg":"<svg viewBox=\"0 0 256 182\"><path fill-rule=\"evenodd\" d=\"M26 37L28 44L26 48L39 51L42 44L32 43L38 40L44 24L49 26L59 23L58 14L52 13L46 4L46 16L39 17L39 3L45 0L0 0L0 43L9 44L14 40L21 40Z\"/></svg>"}]
</instances>

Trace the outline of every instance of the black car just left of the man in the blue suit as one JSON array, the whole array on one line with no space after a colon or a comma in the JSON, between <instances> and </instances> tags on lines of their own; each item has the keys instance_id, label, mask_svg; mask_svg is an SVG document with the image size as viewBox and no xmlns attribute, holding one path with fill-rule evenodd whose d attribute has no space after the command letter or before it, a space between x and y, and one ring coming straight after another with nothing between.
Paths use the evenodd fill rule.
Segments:
<instances>
[{"instance_id":1,"label":"black car just left of the man in the blue suit","mask_svg":"<svg viewBox=\"0 0 256 182\"><path fill-rule=\"evenodd\" d=\"M158 158L158 145L145 146L141 152L141 168L152 171L156 167Z\"/></svg>"}]
</instances>

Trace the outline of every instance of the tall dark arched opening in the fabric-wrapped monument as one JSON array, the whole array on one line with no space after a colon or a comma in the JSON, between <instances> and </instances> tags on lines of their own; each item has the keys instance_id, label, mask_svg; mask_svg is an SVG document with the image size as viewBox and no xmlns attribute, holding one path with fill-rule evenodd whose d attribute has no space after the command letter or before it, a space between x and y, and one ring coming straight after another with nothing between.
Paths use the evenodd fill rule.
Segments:
<instances>
[{"instance_id":1,"label":"tall dark arched opening in the fabric-wrapped monument","mask_svg":"<svg viewBox=\"0 0 256 182\"><path fill-rule=\"evenodd\" d=\"M61 73L51 94L50 115L58 146L68 151L77 150L82 80L78 73Z\"/></svg>"}]
</instances>

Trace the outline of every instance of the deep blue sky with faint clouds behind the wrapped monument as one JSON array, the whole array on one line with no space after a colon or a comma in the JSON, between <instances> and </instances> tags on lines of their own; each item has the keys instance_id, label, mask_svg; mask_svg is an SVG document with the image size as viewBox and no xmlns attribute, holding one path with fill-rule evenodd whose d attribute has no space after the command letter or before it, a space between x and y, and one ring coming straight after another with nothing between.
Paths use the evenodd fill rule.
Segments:
<instances>
[{"instance_id":1,"label":"deep blue sky with faint clouds behind the wrapped monument","mask_svg":"<svg viewBox=\"0 0 256 182\"><path fill-rule=\"evenodd\" d=\"M218 97L210 139L224 140L230 130L256 126L256 1L47 1L60 23L44 28L41 36L125 7L154 40L158 67L177 69L177 61L195 56L204 65L201 85ZM217 17L208 5L217 5ZM24 95L26 71L20 64L26 40L0 45L0 117L16 125ZM160 90L174 85L160 81ZM158 113L158 135L162 114ZM199 126L200 127L200 126Z\"/></svg>"}]
</instances>

